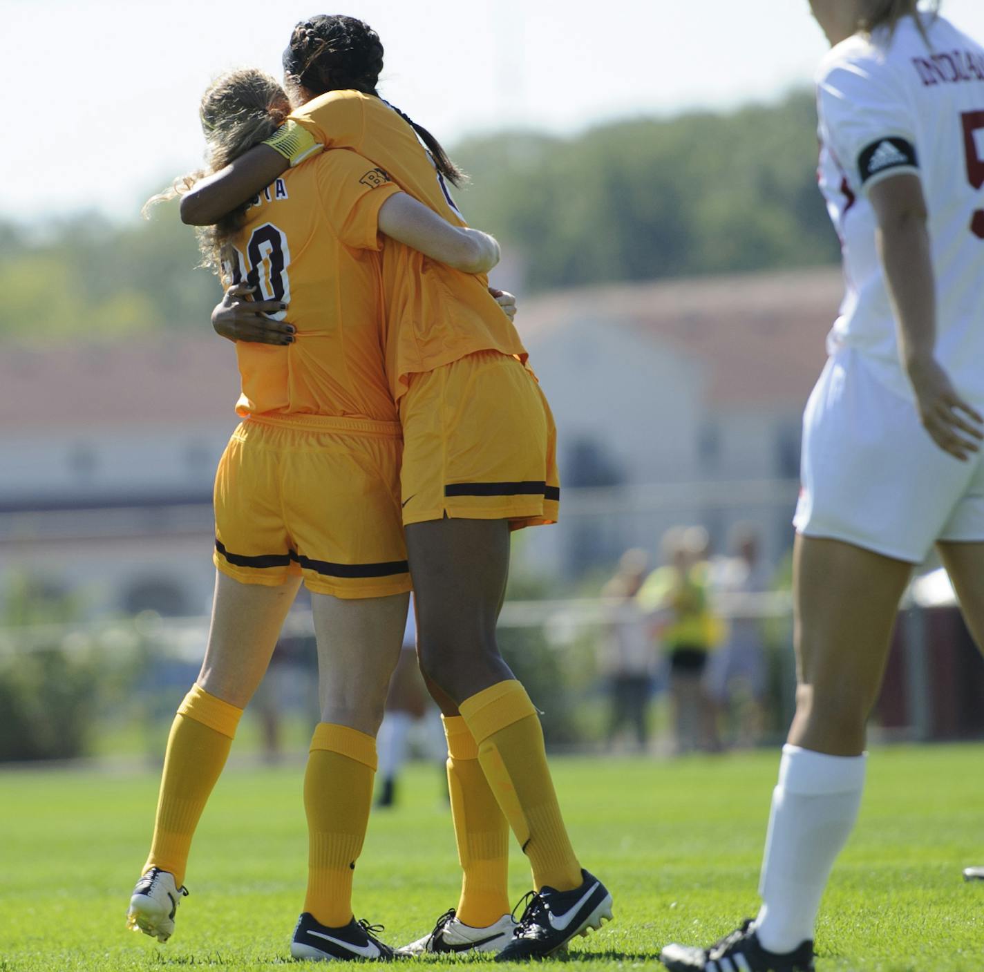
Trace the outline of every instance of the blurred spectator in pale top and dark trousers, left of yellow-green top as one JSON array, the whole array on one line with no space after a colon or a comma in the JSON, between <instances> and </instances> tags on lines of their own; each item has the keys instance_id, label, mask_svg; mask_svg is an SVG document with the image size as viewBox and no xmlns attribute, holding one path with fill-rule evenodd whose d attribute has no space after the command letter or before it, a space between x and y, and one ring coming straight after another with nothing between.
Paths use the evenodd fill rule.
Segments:
<instances>
[{"instance_id":1,"label":"blurred spectator in pale top and dark trousers, left of yellow-green top","mask_svg":"<svg viewBox=\"0 0 984 972\"><path fill-rule=\"evenodd\" d=\"M648 561L645 550L627 550L619 561L618 573L602 589L606 624L600 662L611 699L608 745L614 747L619 733L629 727L640 752L646 751L649 741L655 661L650 624L636 600L646 579Z\"/></svg>"}]
</instances>

